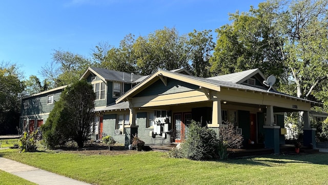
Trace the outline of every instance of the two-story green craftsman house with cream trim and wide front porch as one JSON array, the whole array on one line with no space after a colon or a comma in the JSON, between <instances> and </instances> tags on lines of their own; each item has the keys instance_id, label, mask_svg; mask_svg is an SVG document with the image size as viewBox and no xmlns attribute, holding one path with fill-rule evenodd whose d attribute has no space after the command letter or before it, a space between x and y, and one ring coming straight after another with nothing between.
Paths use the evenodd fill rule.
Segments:
<instances>
[{"instance_id":1,"label":"two-story green craftsman house with cream trim and wide front porch","mask_svg":"<svg viewBox=\"0 0 328 185\"><path fill-rule=\"evenodd\" d=\"M90 82L96 93L95 139L111 135L128 146L131 137L138 134L148 144L178 143L186 139L191 120L216 132L229 122L245 142L259 143L264 136L265 147L279 153L279 145L284 144L284 113L304 111L304 145L315 146L309 112L321 104L269 88L263 84L266 78L259 69L199 78L185 69L138 76L89 67L80 79ZM22 126L32 130L37 127L34 123L45 122L53 107L48 104L51 95L55 101L63 89L24 98ZM38 106L33 104L36 98Z\"/></svg>"}]
</instances>

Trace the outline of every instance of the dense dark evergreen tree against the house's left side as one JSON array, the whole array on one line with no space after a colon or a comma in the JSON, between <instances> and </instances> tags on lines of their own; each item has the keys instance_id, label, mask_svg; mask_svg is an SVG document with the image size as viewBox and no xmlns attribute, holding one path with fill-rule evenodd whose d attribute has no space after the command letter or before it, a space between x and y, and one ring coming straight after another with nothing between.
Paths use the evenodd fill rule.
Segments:
<instances>
[{"instance_id":1,"label":"dense dark evergreen tree against the house's left side","mask_svg":"<svg viewBox=\"0 0 328 185\"><path fill-rule=\"evenodd\" d=\"M66 87L42 127L47 143L54 147L68 140L83 147L91 135L95 93L86 81Z\"/></svg>"}]
</instances>

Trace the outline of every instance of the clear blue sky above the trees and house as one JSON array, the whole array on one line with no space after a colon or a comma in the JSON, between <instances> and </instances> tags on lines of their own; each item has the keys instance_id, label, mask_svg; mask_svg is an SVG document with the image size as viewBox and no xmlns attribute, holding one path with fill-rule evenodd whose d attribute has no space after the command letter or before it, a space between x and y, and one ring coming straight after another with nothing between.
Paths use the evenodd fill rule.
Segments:
<instances>
[{"instance_id":1,"label":"clear blue sky above the trees and house","mask_svg":"<svg viewBox=\"0 0 328 185\"><path fill-rule=\"evenodd\" d=\"M263 1L0 1L0 62L18 64L25 78L41 78L54 49L89 58L99 42L117 47L129 33L147 36L165 26L179 34L214 31L229 23L228 13L257 8Z\"/></svg>"}]
</instances>

